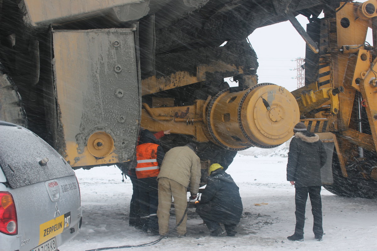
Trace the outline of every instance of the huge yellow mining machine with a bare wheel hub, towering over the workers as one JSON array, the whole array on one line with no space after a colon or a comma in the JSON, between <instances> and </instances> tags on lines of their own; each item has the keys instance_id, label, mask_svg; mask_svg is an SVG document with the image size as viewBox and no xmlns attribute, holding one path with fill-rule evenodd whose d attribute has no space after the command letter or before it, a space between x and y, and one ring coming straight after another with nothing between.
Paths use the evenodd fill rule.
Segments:
<instances>
[{"instance_id":1,"label":"huge yellow mining machine with a bare wheel hub, towering over the workers","mask_svg":"<svg viewBox=\"0 0 377 251\"><path fill-rule=\"evenodd\" d=\"M0 119L27 126L73 168L127 163L140 128L171 129L164 149L196 142L205 177L237 151L281 145L302 120L328 148L326 188L377 195L376 50L365 44L368 26L376 38L375 0L0 3ZM258 83L247 41L287 20L308 45L306 84L292 93Z\"/></svg>"}]
</instances>

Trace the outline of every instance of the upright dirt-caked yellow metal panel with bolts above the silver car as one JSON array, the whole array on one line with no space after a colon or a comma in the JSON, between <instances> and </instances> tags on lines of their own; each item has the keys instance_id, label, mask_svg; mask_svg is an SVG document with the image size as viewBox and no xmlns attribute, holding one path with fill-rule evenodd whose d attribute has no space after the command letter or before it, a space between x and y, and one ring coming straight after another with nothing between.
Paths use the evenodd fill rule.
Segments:
<instances>
[{"instance_id":1,"label":"upright dirt-caked yellow metal panel with bolts above the silver car","mask_svg":"<svg viewBox=\"0 0 377 251\"><path fill-rule=\"evenodd\" d=\"M131 159L140 116L133 30L63 30L53 41L58 151L73 167ZM89 151L95 132L106 137L92 138Z\"/></svg>"}]
</instances>

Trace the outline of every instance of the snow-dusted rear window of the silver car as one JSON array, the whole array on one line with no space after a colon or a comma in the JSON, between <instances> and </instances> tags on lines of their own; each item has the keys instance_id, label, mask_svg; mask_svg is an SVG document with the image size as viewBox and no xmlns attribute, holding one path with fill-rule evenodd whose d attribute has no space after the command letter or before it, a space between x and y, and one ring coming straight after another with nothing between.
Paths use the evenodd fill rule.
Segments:
<instances>
[{"instance_id":1,"label":"snow-dusted rear window of the silver car","mask_svg":"<svg viewBox=\"0 0 377 251\"><path fill-rule=\"evenodd\" d=\"M50 145L19 126L0 125L0 166L12 188L75 174Z\"/></svg>"}]
</instances>

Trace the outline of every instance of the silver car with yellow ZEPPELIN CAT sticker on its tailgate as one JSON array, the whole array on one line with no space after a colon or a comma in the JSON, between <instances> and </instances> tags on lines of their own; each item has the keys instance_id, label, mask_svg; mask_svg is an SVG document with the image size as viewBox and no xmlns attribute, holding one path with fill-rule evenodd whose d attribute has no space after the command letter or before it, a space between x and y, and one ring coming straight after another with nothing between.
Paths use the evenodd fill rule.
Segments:
<instances>
[{"instance_id":1,"label":"silver car with yellow ZEPPELIN CAT sticker on its tailgate","mask_svg":"<svg viewBox=\"0 0 377 251\"><path fill-rule=\"evenodd\" d=\"M0 251L54 251L82 222L69 164L21 126L0 121Z\"/></svg>"}]
</instances>

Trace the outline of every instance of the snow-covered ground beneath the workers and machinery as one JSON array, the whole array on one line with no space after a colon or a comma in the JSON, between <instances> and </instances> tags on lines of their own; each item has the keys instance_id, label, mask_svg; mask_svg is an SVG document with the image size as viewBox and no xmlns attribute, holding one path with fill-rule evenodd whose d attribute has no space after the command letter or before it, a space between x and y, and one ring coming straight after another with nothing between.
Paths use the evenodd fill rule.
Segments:
<instances>
[{"instance_id":1,"label":"snow-covered ground beneath the workers and machinery","mask_svg":"<svg viewBox=\"0 0 377 251\"><path fill-rule=\"evenodd\" d=\"M286 181L287 149L250 149L240 152L227 170L240 188L243 218L236 237L210 237L193 208L189 209L187 236L167 239L140 250L376 250L377 199L342 198L322 190L322 242L314 239L313 216L308 200L305 241L291 242L294 230L294 187ZM132 185L122 183L116 167L77 170L83 207L83 227L60 251L138 245L157 239L128 225ZM259 205L255 205L259 204ZM171 217L173 228L174 216ZM127 250L120 249L120 250Z\"/></svg>"}]
</instances>

